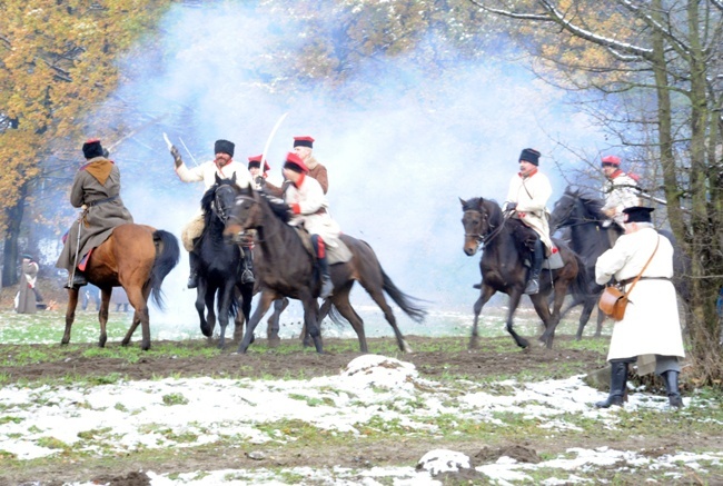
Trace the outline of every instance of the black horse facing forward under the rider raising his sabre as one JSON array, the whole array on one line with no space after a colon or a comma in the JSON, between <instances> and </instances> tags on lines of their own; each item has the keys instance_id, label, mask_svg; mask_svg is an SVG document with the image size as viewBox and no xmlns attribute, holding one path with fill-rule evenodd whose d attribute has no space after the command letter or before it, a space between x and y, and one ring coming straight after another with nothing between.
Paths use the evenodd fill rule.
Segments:
<instances>
[{"instance_id":1,"label":"black horse facing forward under the rider raising his sabre","mask_svg":"<svg viewBox=\"0 0 723 486\"><path fill-rule=\"evenodd\" d=\"M238 246L229 245L222 235L228 218L225 208L234 205L236 191L232 187L235 186L236 173L230 179L221 179L216 175L216 182L201 198L205 226L196 244L198 251L196 310L200 319L201 333L210 338L216 326L214 304L217 302L218 321L221 327L218 343L220 349L226 347L226 327L229 318L235 318L238 311L235 290L238 290L240 310L246 323L249 320L254 297L254 284L241 282L244 270L241 251ZM239 329L240 326L237 325L237 330Z\"/></svg>"}]
</instances>

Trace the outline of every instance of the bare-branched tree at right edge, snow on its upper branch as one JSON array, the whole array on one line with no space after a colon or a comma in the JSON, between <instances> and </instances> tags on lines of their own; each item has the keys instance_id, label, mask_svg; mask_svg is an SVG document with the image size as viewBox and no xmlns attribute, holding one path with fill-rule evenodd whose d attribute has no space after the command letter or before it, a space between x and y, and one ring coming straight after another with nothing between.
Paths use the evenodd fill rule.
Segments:
<instances>
[{"instance_id":1,"label":"bare-branched tree at right edge, snow on its upper branch","mask_svg":"<svg viewBox=\"0 0 723 486\"><path fill-rule=\"evenodd\" d=\"M692 259L693 357L701 383L720 384L715 297L723 285L723 3L523 0L499 8L471 2L515 21L557 82L602 93L607 108L618 113L605 123L615 127L621 145L657 161L651 163L661 169L671 228ZM553 37L556 42L539 42ZM625 105L632 96L652 100L653 111ZM654 137L645 140L651 126Z\"/></svg>"}]
</instances>

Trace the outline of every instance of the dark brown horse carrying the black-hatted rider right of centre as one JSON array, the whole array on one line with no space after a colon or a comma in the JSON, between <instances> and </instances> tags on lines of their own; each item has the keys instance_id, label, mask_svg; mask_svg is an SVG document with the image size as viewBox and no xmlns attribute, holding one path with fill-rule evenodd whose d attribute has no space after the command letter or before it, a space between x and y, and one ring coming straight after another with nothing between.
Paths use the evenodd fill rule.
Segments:
<instances>
[{"instance_id":1,"label":"dark brown horse carrying the black-hatted rider right of centre","mask_svg":"<svg viewBox=\"0 0 723 486\"><path fill-rule=\"evenodd\" d=\"M469 347L477 347L477 324L482 308L493 295L501 291L509 296L506 318L507 333L512 335L517 346L523 349L527 348L529 343L517 335L513 328L513 317L527 284L527 268L521 256L521 252L526 250L519 247L519 241L521 237L528 238L526 235L532 230L518 219L505 218L499 205L493 200L479 197L469 200L459 198L459 201L464 212L462 218L465 230L464 252L472 257L481 248L481 244L484 245L479 260L482 285L479 286L479 298L474 305L475 317ZM575 294L583 294L586 282L580 257L563 241L557 239L553 239L553 241L562 257L563 267L556 270L543 270L539 292L529 296L545 326L545 331L539 340L548 349L553 347L555 328L561 318L559 308L568 288ZM555 292L555 298L551 314L547 297L552 290Z\"/></svg>"}]
</instances>

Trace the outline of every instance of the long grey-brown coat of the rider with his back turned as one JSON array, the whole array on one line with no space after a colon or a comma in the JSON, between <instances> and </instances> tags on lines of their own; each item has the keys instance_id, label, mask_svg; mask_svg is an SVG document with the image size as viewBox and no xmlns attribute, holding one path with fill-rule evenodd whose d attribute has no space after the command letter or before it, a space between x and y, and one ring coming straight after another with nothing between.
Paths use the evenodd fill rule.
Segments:
<instances>
[{"instance_id":1,"label":"long grey-brown coat of the rider with his back turned","mask_svg":"<svg viewBox=\"0 0 723 486\"><path fill-rule=\"evenodd\" d=\"M82 166L76 175L70 190L70 204L73 208L80 208L83 205L88 206L88 209L82 215L78 262L82 261L83 256L91 249L106 241L117 226L133 222L133 217L130 216L122 199L120 199L120 171L118 167L108 160L112 168L103 184L87 170L91 162L103 160L106 159L102 157L96 157ZM108 198L115 199L106 200ZM76 259L79 228L80 225L76 220L66 234L65 246L56 262L56 267L66 268L69 272L72 270Z\"/></svg>"}]
</instances>

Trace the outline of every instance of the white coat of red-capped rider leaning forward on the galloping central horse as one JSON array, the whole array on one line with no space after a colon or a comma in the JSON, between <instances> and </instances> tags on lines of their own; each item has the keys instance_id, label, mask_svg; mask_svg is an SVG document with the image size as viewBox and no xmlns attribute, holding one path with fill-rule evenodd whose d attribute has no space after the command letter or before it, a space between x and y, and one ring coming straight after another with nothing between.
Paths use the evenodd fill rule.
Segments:
<instances>
[{"instance_id":1,"label":"white coat of red-capped rider leaning forward on the galloping central horse","mask_svg":"<svg viewBox=\"0 0 723 486\"><path fill-rule=\"evenodd\" d=\"M329 205L318 180L303 176L298 186L291 184L286 189L284 200L294 210L289 225L304 225L309 235L319 235L325 240L341 234L339 225L329 216Z\"/></svg>"}]
</instances>

